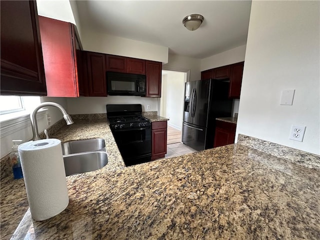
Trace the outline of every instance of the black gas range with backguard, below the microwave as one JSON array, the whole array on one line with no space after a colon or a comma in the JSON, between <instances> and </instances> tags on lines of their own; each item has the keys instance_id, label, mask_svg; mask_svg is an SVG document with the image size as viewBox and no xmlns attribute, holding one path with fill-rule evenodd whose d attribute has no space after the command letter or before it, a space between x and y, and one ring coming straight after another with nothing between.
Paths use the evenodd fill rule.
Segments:
<instances>
[{"instance_id":1,"label":"black gas range with backguard, below the microwave","mask_svg":"<svg viewBox=\"0 0 320 240\"><path fill-rule=\"evenodd\" d=\"M126 166L151 160L151 121L141 104L107 104L106 115Z\"/></svg>"}]
</instances>

